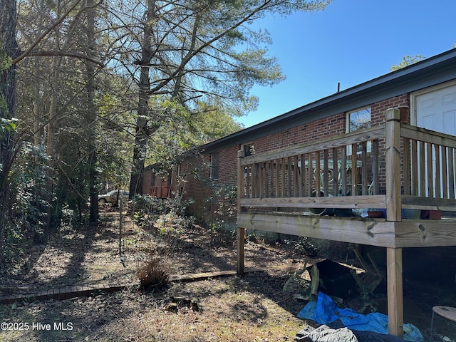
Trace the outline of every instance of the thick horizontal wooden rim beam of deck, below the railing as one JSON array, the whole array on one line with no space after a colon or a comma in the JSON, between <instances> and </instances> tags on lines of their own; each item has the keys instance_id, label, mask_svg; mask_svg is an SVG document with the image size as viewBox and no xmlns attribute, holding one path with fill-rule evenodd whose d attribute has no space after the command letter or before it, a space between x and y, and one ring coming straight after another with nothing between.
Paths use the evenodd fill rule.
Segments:
<instances>
[{"instance_id":1,"label":"thick horizontal wooden rim beam of deck, below the railing","mask_svg":"<svg viewBox=\"0 0 456 342\"><path fill-rule=\"evenodd\" d=\"M312 216L286 212L245 212L239 227L378 247L455 246L452 219L404 219L402 222L361 217Z\"/></svg>"}]
</instances>

